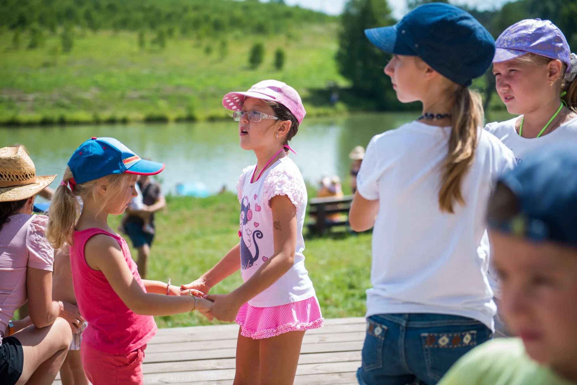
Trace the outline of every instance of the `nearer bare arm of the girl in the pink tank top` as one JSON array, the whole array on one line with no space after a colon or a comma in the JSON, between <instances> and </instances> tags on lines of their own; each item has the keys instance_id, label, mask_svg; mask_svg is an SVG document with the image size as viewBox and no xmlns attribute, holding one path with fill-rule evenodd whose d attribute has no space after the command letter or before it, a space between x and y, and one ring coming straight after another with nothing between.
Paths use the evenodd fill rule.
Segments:
<instances>
[{"instance_id":1,"label":"nearer bare arm of the girl in the pink tank top","mask_svg":"<svg viewBox=\"0 0 577 385\"><path fill-rule=\"evenodd\" d=\"M84 255L88 266L102 271L114 292L136 314L161 316L185 313L193 308L201 311L210 308L211 301L199 301L193 296L144 292L126 264L118 242L110 236L93 236L86 243Z\"/></svg>"}]
</instances>

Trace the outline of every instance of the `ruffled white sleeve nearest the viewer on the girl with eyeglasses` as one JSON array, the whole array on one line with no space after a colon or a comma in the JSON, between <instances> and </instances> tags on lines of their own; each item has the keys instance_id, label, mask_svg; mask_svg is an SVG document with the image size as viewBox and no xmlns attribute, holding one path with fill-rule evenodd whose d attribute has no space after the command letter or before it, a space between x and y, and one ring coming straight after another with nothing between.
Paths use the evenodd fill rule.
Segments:
<instances>
[{"instance_id":1,"label":"ruffled white sleeve nearest the viewer on the girl with eyeglasses","mask_svg":"<svg viewBox=\"0 0 577 385\"><path fill-rule=\"evenodd\" d=\"M306 202L306 186L298 169L275 167L268 173L263 183L263 206L271 210L271 199L276 195L286 195L297 211L301 209Z\"/></svg>"}]
</instances>

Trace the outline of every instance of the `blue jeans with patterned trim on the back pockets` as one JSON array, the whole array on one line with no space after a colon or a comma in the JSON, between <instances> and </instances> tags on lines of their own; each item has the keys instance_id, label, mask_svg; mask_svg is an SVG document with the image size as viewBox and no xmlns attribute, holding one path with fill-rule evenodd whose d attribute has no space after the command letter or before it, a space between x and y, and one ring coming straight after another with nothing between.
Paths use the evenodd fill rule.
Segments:
<instances>
[{"instance_id":1,"label":"blue jeans with patterned trim on the back pockets","mask_svg":"<svg viewBox=\"0 0 577 385\"><path fill-rule=\"evenodd\" d=\"M445 314L367 319L361 385L436 384L463 354L493 337L478 320Z\"/></svg>"}]
</instances>

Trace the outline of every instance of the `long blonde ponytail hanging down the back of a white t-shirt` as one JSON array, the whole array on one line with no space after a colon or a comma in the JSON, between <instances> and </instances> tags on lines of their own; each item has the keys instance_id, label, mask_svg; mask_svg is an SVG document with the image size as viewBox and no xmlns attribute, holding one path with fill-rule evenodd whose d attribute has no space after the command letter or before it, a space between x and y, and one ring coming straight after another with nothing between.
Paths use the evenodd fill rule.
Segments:
<instances>
[{"instance_id":1,"label":"long blonde ponytail hanging down the back of a white t-shirt","mask_svg":"<svg viewBox=\"0 0 577 385\"><path fill-rule=\"evenodd\" d=\"M461 182L469 171L477 148L477 131L483 122L481 95L459 86L452 111L452 130L449 150L441 173L439 207L441 212L454 213L456 202L465 204Z\"/></svg>"}]
</instances>

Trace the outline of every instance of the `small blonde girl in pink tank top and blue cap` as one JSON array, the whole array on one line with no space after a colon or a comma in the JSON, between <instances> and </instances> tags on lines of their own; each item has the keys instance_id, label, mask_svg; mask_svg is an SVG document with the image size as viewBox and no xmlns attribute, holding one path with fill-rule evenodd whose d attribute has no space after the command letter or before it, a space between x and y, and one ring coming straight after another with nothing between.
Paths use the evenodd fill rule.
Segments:
<instances>
[{"instance_id":1,"label":"small blonde girl in pink tank top and blue cap","mask_svg":"<svg viewBox=\"0 0 577 385\"><path fill-rule=\"evenodd\" d=\"M95 385L143 383L144 349L157 330L152 316L207 313L212 305L198 290L141 280L126 241L108 226L108 215L122 214L136 196L137 176L163 168L116 139L89 139L70 158L50 206L47 238L55 248L70 244L74 292L88 322L81 360Z\"/></svg>"}]
</instances>

